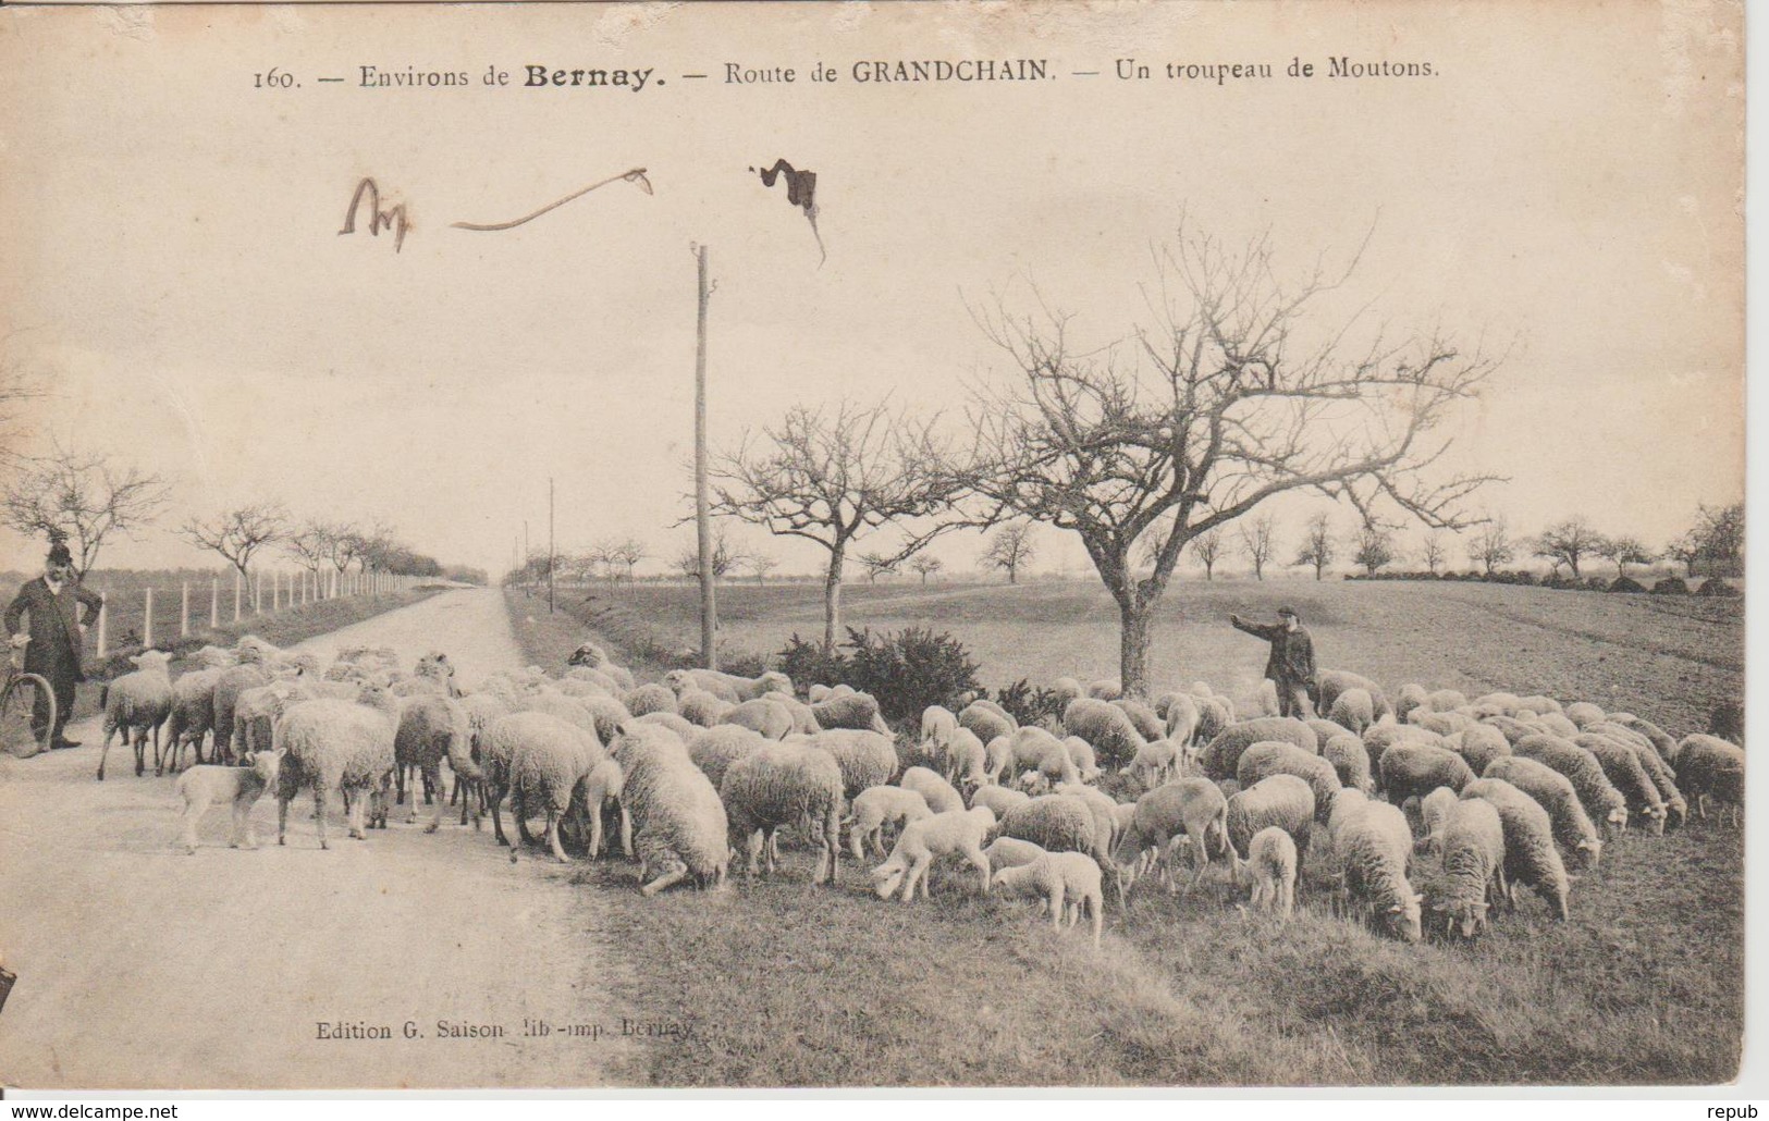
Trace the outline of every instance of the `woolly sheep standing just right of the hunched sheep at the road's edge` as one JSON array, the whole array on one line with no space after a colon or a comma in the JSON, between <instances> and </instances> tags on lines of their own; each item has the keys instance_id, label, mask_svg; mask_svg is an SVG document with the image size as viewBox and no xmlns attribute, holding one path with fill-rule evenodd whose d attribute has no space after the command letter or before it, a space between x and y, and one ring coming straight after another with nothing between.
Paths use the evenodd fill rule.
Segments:
<instances>
[{"instance_id":1,"label":"woolly sheep standing just right of the hunched sheep at the road's edge","mask_svg":"<svg viewBox=\"0 0 1769 1121\"><path fill-rule=\"evenodd\" d=\"M835 757L808 743L766 744L731 764L718 787L731 824L731 847L747 847L748 873L757 873L762 849L775 870L773 835L800 820L817 836L817 868L810 882L835 882L840 863L842 769Z\"/></svg>"}]
</instances>

